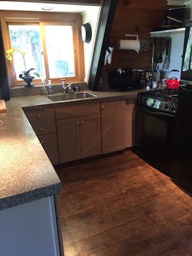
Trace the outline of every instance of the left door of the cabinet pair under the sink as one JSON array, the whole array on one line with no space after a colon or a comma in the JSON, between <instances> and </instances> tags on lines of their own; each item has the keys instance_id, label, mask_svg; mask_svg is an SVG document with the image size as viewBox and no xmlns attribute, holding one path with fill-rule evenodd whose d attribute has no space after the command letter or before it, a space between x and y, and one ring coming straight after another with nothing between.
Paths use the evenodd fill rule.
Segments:
<instances>
[{"instance_id":1,"label":"left door of the cabinet pair under the sink","mask_svg":"<svg viewBox=\"0 0 192 256\"><path fill-rule=\"evenodd\" d=\"M58 120L56 123L60 163L80 159L80 119L69 118Z\"/></svg>"}]
</instances>

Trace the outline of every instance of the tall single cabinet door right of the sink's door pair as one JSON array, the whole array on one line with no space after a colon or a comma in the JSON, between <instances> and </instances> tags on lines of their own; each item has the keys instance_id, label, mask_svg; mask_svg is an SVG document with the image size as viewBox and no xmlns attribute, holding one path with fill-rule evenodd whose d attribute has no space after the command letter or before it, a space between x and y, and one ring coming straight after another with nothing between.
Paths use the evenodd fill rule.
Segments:
<instances>
[{"instance_id":1,"label":"tall single cabinet door right of the sink's door pair","mask_svg":"<svg viewBox=\"0 0 192 256\"><path fill-rule=\"evenodd\" d=\"M101 103L102 154L125 149L125 101Z\"/></svg>"}]
</instances>

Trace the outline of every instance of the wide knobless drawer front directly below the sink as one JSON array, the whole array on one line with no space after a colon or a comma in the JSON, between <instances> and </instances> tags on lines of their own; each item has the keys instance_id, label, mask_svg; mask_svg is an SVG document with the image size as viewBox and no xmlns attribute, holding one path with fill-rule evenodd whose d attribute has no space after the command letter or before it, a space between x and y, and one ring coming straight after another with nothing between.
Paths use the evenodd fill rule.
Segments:
<instances>
[{"instance_id":1,"label":"wide knobless drawer front directly below the sink","mask_svg":"<svg viewBox=\"0 0 192 256\"><path fill-rule=\"evenodd\" d=\"M84 104L66 107L57 107L55 109L56 120L75 118L80 116L89 116L91 114L100 114L100 104Z\"/></svg>"}]
</instances>

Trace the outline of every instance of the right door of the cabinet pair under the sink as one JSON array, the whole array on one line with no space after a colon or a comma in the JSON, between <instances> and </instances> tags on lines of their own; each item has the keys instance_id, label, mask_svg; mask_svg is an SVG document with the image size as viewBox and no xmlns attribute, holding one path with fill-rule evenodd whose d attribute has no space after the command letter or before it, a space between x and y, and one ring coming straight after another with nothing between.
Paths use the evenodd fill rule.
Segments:
<instances>
[{"instance_id":1,"label":"right door of the cabinet pair under the sink","mask_svg":"<svg viewBox=\"0 0 192 256\"><path fill-rule=\"evenodd\" d=\"M101 154L101 120L100 114L80 118L81 157Z\"/></svg>"}]
</instances>

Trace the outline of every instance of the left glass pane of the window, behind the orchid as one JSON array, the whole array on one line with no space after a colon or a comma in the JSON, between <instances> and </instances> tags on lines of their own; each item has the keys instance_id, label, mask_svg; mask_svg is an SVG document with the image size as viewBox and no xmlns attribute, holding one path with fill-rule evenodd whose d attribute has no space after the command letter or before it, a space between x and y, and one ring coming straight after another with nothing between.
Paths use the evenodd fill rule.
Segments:
<instances>
[{"instance_id":1,"label":"left glass pane of the window, behind the orchid","mask_svg":"<svg viewBox=\"0 0 192 256\"><path fill-rule=\"evenodd\" d=\"M12 48L19 48L25 52L26 68L34 68L34 72L45 76L45 65L42 56L41 34L38 25L9 25L10 41ZM25 70L22 54L14 53L14 68L16 78Z\"/></svg>"}]
</instances>

